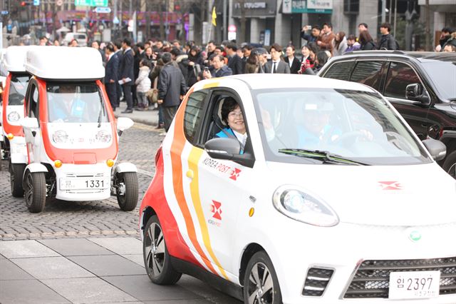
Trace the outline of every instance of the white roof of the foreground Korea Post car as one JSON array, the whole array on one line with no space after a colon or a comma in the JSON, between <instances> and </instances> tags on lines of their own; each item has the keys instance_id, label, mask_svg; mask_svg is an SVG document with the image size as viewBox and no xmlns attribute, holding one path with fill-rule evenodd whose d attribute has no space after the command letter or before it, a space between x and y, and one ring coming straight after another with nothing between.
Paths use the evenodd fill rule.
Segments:
<instances>
[{"instance_id":1,"label":"white roof of the foreground Korea Post car","mask_svg":"<svg viewBox=\"0 0 456 304\"><path fill-rule=\"evenodd\" d=\"M361 83L298 74L239 74L214 78L213 80L208 79L207 82L217 81L217 86L226 86L232 80L242 81L254 90L264 88L340 88L373 92L372 88ZM202 84L204 86L204 83Z\"/></svg>"}]
</instances>

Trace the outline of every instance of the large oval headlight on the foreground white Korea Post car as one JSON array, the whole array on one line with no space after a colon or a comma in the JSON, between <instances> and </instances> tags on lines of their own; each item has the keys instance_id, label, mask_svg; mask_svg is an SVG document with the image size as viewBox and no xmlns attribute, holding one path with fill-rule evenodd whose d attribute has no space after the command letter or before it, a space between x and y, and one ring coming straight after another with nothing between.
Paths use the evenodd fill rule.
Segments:
<instances>
[{"instance_id":1,"label":"large oval headlight on the foreground white Korea Post car","mask_svg":"<svg viewBox=\"0 0 456 304\"><path fill-rule=\"evenodd\" d=\"M339 223L336 212L321 198L297 186L277 188L272 196L274 207L285 216L314 226L331 227Z\"/></svg>"}]
</instances>

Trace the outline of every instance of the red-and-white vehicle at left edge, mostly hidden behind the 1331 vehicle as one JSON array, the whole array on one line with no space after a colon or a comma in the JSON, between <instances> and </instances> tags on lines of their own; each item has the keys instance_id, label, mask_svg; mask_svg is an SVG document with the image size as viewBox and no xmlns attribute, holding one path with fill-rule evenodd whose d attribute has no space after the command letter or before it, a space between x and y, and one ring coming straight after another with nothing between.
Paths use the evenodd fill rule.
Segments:
<instances>
[{"instance_id":1,"label":"red-and-white vehicle at left edge, mostly hidden behind the 1331 vehicle","mask_svg":"<svg viewBox=\"0 0 456 304\"><path fill-rule=\"evenodd\" d=\"M7 71L2 100L1 126L3 158L9 161L11 195L24 196L22 176L27 164L27 148L20 124L24 118L24 96L30 74L24 67L26 53L37 46L9 46L3 56L2 66Z\"/></svg>"}]
</instances>

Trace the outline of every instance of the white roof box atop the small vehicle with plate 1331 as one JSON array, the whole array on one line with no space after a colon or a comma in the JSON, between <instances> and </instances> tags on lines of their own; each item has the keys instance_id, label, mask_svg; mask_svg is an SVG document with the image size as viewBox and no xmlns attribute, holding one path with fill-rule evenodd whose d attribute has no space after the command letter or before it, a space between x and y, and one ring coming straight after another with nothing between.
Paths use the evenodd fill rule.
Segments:
<instances>
[{"instance_id":1,"label":"white roof box atop the small vehicle with plate 1331","mask_svg":"<svg viewBox=\"0 0 456 304\"><path fill-rule=\"evenodd\" d=\"M87 47L41 46L27 51L26 71L44 79L89 80L105 76L100 52Z\"/></svg>"}]
</instances>

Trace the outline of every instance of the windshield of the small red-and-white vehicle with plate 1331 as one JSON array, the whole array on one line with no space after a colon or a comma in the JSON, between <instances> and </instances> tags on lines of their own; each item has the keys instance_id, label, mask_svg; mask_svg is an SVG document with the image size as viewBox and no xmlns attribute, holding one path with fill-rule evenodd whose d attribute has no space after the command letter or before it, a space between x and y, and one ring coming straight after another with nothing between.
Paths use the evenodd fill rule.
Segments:
<instances>
[{"instance_id":1,"label":"windshield of the small red-and-white vehicle with plate 1331","mask_svg":"<svg viewBox=\"0 0 456 304\"><path fill-rule=\"evenodd\" d=\"M46 90L49 122L108 122L103 97L95 83L48 83Z\"/></svg>"}]
</instances>

